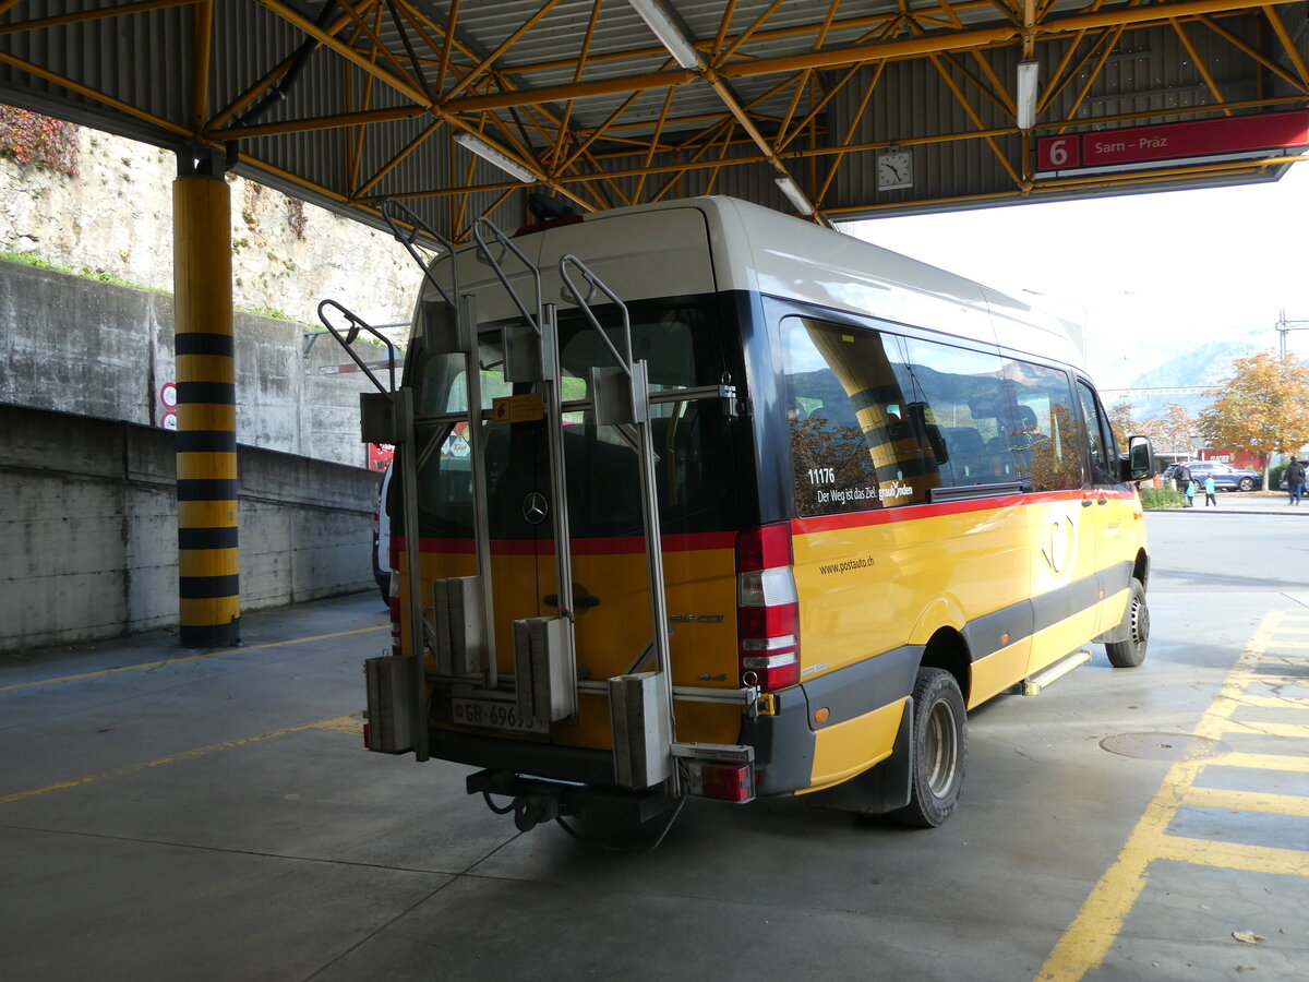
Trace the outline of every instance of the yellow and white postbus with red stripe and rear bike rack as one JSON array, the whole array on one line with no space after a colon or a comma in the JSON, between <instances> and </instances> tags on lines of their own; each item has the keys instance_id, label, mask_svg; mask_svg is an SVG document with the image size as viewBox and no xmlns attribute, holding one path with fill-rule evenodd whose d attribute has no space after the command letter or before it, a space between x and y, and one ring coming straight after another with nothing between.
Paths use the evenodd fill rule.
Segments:
<instances>
[{"instance_id":1,"label":"yellow and white postbus with red stripe and rear bike rack","mask_svg":"<svg viewBox=\"0 0 1309 982\"><path fill-rule=\"evenodd\" d=\"M1153 457L1054 318L726 198L476 238L415 313L373 749L478 769L520 827L687 795L935 826L967 710L1092 642L1140 664Z\"/></svg>"}]
</instances>

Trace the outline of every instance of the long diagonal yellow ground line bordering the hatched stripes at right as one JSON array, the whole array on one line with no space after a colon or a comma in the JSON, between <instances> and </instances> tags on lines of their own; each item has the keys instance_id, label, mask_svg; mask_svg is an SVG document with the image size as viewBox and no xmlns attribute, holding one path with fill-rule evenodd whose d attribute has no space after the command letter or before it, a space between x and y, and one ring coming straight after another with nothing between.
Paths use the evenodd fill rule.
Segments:
<instances>
[{"instance_id":1,"label":"long diagonal yellow ground line bordering the hatched stripes at right","mask_svg":"<svg viewBox=\"0 0 1309 982\"><path fill-rule=\"evenodd\" d=\"M1270 611L1255 628L1241 657L1223 682L1223 687L1195 728L1195 736L1217 738L1240 703L1241 693L1254 674L1254 666L1282 625L1282 611ZM1227 754L1233 757L1234 754ZM1182 759L1169 767L1155 797L1136 822L1127 843L1083 902L1077 917L1055 944L1050 957L1035 975L1037 982L1077 982L1092 969L1100 968L1136 900L1149 881L1149 864L1165 854L1166 829L1177 814L1186 792L1207 763L1224 758ZM1306 761L1309 763L1309 761ZM1196 850L1196 855L1199 851Z\"/></svg>"}]
</instances>

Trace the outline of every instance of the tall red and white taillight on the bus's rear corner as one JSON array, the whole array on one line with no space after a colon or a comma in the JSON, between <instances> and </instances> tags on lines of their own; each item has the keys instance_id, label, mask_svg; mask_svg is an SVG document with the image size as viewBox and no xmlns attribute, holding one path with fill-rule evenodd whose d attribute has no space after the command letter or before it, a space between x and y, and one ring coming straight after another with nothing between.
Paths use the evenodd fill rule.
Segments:
<instances>
[{"instance_id":1,"label":"tall red and white taillight on the bus's rear corner","mask_svg":"<svg viewBox=\"0 0 1309 982\"><path fill-rule=\"evenodd\" d=\"M800 605L785 522L737 536L737 638L741 678L764 691L800 681Z\"/></svg>"}]
</instances>

